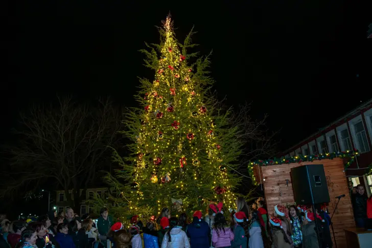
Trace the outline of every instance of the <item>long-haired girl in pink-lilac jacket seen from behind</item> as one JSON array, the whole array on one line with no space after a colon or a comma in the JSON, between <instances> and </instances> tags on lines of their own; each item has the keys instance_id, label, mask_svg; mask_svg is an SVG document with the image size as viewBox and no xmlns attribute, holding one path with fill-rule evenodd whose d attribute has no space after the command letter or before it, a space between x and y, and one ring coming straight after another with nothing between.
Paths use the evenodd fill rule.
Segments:
<instances>
[{"instance_id":1,"label":"long-haired girl in pink-lilac jacket seen from behind","mask_svg":"<svg viewBox=\"0 0 372 248\"><path fill-rule=\"evenodd\" d=\"M212 245L215 248L230 247L233 240L234 233L227 226L225 217L221 213L216 214L215 224L212 230Z\"/></svg>"}]
</instances>

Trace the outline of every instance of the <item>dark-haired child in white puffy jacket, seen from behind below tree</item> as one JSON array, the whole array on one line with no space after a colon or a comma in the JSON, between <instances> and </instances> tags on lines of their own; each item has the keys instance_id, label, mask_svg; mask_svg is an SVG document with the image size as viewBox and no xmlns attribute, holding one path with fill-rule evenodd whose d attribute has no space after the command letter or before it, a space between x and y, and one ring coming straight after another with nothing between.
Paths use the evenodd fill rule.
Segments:
<instances>
[{"instance_id":1,"label":"dark-haired child in white puffy jacket, seen from behind below tree","mask_svg":"<svg viewBox=\"0 0 372 248\"><path fill-rule=\"evenodd\" d=\"M171 227L161 242L161 248L190 248L188 236L177 226L178 219L172 217L169 222Z\"/></svg>"}]
</instances>

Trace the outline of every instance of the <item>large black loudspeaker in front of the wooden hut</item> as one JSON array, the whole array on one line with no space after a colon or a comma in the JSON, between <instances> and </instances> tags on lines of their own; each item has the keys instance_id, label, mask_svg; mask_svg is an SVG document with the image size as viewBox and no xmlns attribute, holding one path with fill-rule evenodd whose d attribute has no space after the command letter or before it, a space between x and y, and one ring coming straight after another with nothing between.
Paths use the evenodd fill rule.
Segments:
<instances>
[{"instance_id":1,"label":"large black loudspeaker in front of the wooden hut","mask_svg":"<svg viewBox=\"0 0 372 248\"><path fill-rule=\"evenodd\" d=\"M291 175L296 204L330 202L323 165L304 165L292 168Z\"/></svg>"}]
</instances>

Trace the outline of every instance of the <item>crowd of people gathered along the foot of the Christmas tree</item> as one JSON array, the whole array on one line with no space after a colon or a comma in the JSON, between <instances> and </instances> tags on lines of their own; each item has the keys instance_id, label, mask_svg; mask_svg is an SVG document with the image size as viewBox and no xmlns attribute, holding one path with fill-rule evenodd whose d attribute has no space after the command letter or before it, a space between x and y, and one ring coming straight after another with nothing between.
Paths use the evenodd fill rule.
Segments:
<instances>
[{"instance_id":1,"label":"crowd of people gathered along the foot of the Christmas tree","mask_svg":"<svg viewBox=\"0 0 372 248\"><path fill-rule=\"evenodd\" d=\"M107 208L101 209L97 225L71 208L51 211L38 218L3 220L0 248L332 248L330 217L320 205L316 213L304 206L276 205L268 214L262 197L251 207L238 197L236 206L224 213L222 202L212 203L205 215L195 211L191 221L185 213L174 217L164 208L145 224L133 216L129 228L114 222Z\"/></svg>"}]
</instances>

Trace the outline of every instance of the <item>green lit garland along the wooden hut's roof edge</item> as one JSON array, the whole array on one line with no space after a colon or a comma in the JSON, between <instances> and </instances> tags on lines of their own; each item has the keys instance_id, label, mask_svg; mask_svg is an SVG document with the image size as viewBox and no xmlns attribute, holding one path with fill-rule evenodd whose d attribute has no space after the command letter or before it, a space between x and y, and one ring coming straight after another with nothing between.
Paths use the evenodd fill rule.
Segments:
<instances>
[{"instance_id":1,"label":"green lit garland along the wooden hut's roof edge","mask_svg":"<svg viewBox=\"0 0 372 248\"><path fill-rule=\"evenodd\" d=\"M292 163L302 163L302 162L313 162L314 160L333 160L336 157L339 157L340 159L350 159L348 162L344 164L345 169L349 167L355 160L355 157L359 156L358 150L353 151L338 151L338 152L331 152L331 153L325 153L325 154L319 154L319 155L297 155L297 156L291 156L291 157L281 157L280 159L277 159L274 157L274 159L269 160L257 160L254 162L249 162L248 165L248 173L250 177L252 178L252 183L254 186L259 185L259 183L256 181L254 173L253 173L253 167L255 165L258 166L268 166L268 165L283 165L283 164L292 164ZM372 173L372 164L370 165L370 173Z\"/></svg>"}]
</instances>

